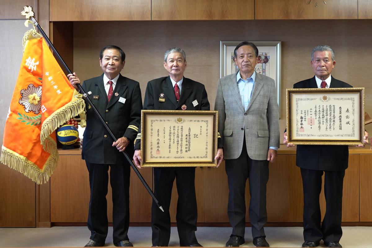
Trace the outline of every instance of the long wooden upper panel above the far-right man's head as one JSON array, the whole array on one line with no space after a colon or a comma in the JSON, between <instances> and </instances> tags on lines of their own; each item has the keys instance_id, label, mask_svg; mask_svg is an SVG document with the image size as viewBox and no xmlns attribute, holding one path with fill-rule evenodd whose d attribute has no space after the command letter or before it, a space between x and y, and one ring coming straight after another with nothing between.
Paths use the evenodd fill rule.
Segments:
<instances>
[{"instance_id":1,"label":"long wooden upper panel above the far-right man's head","mask_svg":"<svg viewBox=\"0 0 372 248\"><path fill-rule=\"evenodd\" d=\"M357 0L255 0L255 19L357 19ZM310 3L309 3L310 2ZM309 3L309 4L307 4ZM318 7L315 7L315 3Z\"/></svg>"}]
</instances>

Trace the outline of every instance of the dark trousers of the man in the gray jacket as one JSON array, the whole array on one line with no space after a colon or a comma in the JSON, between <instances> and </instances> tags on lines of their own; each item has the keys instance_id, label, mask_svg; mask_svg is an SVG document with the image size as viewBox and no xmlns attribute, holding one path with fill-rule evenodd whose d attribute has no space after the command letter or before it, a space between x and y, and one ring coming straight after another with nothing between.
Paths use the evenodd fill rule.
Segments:
<instances>
[{"instance_id":1,"label":"dark trousers of the man in the gray jacket","mask_svg":"<svg viewBox=\"0 0 372 248\"><path fill-rule=\"evenodd\" d=\"M227 214L232 226L232 234L244 237L246 225L246 182L249 179L249 219L253 238L266 236L267 222L266 184L269 180L269 161L253 160L247 154L246 142L237 159L227 159L225 169L229 185Z\"/></svg>"}]
</instances>

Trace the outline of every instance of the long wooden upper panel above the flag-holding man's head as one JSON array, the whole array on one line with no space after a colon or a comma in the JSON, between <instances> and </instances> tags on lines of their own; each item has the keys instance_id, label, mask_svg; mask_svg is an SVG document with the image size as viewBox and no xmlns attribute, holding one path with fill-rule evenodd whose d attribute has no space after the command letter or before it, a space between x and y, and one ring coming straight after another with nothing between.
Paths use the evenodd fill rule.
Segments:
<instances>
[{"instance_id":1,"label":"long wooden upper panel above the flag-holding man's head","mask_svg":"<svg viewBox=\"0 0 372 248\"><path fill-rule=\"evenodd\" d=\"M151 0L50 0L50 21L150 20Z\"/></svg>"}]
</instances>

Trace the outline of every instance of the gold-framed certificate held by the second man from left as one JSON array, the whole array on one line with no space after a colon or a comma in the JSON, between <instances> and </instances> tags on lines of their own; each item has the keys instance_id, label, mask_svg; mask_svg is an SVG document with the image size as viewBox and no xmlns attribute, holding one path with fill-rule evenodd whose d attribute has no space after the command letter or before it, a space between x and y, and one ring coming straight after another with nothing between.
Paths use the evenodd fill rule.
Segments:
<instances>
[{"instance_id":1,"label":"gold-framed certificate held by the second man from left","mask_svg":"<svg viewBox=\"0 0 372 248\"><path fill-rule=\"evenodd\" d=\"M218 111L142 110L141 167L216 166Z\"/></svg>"}]
</instances>

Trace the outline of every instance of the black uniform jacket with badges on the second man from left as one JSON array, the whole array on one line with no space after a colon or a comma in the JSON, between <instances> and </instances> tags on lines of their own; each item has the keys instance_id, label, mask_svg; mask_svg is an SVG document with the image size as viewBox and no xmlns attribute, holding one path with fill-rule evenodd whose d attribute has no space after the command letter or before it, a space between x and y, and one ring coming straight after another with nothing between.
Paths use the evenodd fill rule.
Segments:
<instances>
[{"instance_id":1,"label":"black uniform jacket with badges on the second man from left","mask_svg":"<svg viewBox=\"0 0 372 248\"><path fill-rule=\"evenodd\" d=\"M159 101L160 94L164 94L164 102ZM194 107L193 101L198 101ZM180 99L177 102L170 77L151 80L147 83L144 110L181 110L182 105L186 110L209 110L207 92L203 84L189 78L183 78ZM138 132L140 133L141 130ZM138 136L134 149L141 149L141 139Z\"/></svg>"}]
</instances>

